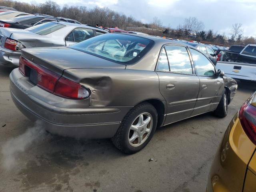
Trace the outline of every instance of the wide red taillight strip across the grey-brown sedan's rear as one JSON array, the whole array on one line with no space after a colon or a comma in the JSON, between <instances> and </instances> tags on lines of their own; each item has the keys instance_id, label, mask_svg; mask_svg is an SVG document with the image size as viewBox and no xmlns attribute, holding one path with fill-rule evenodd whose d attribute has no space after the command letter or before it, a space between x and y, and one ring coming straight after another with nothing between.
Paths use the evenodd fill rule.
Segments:
<instances>
[{"instance_id":1,"label":"wide red taillight strip across the grey-brown sedan's rear","mask_svg":"<svg viewBox=\"0 0 256 192\"><path fill-rule=\"evenodd\" d=\"M29 76L30 70L37 72L37 86L61 97L70 99L84 99L90 95L89 90L80 84L51 72L34 64L24 57L20 57L19 70L24 76Z\"/></svg>"}]
</instances>

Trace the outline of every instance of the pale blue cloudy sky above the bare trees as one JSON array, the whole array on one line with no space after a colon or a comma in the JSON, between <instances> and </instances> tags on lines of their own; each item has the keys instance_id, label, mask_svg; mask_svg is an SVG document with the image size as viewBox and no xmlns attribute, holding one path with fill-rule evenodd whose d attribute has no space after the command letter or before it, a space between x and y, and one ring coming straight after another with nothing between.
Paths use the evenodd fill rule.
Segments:
<instances>
[{"instance_id":1,"label":"pale blue cloudy sky above the bare trees","mask_svg":"<svg viewBox=\"0 0 256 192\"><path fill-rule=\"evenodd\" d=\"M30 2L29 0L19 0ZM256 37L256 0L52 0L64 4L108 7L133 16L144 23L158 17L164 26L177 28L184 19L195 16L204 22L205 30L230 36L232 24L242 23L245 36ZM44 3L46 0L33 0Z\"/></svg>"}]
</instances>

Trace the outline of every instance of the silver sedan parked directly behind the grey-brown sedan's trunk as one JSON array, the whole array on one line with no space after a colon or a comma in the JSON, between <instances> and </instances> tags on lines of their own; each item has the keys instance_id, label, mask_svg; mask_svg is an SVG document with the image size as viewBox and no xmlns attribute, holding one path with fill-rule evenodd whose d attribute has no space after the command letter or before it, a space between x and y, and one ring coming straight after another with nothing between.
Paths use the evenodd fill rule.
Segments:
<instances>
[{"instance_id":1,"label":"silver sedan parked directly behind the grey-brown sedan's trunk","mask_svg":"<svg viewBox=\"0 0 256 192\"><path fill-rule=\"evenodd\" d=\"M0 63L19 66L23 48L70 46L107 33L104 30L68 22L46 22L26 29L0 28Z\"/></svg>"}]
</instances>

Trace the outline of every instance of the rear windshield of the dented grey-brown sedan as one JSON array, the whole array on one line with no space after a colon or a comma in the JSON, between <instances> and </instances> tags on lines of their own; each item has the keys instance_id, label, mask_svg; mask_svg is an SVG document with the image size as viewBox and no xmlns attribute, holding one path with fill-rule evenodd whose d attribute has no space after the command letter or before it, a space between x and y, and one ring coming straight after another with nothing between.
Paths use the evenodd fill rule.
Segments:
<instances>
[{"instance_id":1,"label":"rear windshield of the dented grey-brown sedan","mask_svg":"<svg viewBox=\"0 0 256 192\"><path fill-rule=\"evenodd\" d=\"M153 46L154 41L125 34L104 34L70 48L122 64L133 64Z\"/></svg>"}]
</instances>

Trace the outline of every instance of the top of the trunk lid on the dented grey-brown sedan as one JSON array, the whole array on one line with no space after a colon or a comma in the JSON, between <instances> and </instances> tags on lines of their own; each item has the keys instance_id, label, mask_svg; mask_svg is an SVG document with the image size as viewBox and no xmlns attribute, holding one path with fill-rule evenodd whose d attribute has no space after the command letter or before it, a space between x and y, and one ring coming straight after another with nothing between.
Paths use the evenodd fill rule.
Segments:
<instances>
[{"instance_id":1,"label":"top of the trunk lid on the dented grey-brown sedan","mask_svg":"<svg viewBox=\"0 0 256 192\"><path fill-rule=\"evenodd\" d=\"M68 47L46 47L22 49L22 56L44 66L51 71L61 73L65 69L79 68L123 68L125 65L93 56Z\"/></svg>"}]
</instances>

